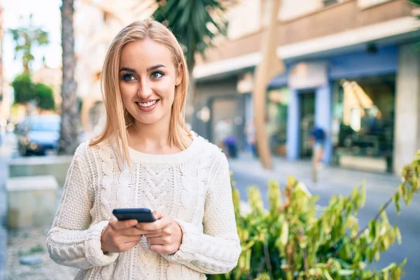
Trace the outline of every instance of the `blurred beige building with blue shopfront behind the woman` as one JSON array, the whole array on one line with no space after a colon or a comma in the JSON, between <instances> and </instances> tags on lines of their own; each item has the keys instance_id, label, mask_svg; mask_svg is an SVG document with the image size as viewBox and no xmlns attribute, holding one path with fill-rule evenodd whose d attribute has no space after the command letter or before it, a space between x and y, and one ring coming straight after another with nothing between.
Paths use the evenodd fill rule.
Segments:
<instances>
[{"instance_id":1,"label":"blurred beige building with blue shopfront behind the woman","mask_svg":"<svg viewBox=\"0 0 420 280\"><path fill-rule=\"evenodd\" d=\"M246 148L253 117L253 71L269 0L244 0L229 11L228 39L197 63L193 129L216 139L230 120ZM311 155L310 131L328 133L325 161L399 172L420 148L420 21L405 0L283 0L277 55L285 73L269 84L267 133L272 153Z\"/></svg>"}]
</instances>

